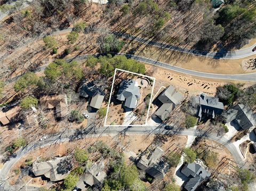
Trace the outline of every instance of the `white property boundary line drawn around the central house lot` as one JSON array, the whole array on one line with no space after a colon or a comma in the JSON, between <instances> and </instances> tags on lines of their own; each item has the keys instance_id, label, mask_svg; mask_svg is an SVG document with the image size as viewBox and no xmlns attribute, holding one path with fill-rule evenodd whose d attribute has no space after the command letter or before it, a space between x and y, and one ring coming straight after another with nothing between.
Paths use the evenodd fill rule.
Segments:
<instances>
[{"instance_id":1,"label":"white property boundary line drawn around the central house lot","mask_svg":"<svg viewBox=\"0 0 256 191\"><path fill-rule=\"evenodd\" d=\"M146 118L145 124L129 124L129 125L126 125L126 124L106 124L107 123L107 118L108 118L108 110L109 110L109 106L110 106L111 96L112 96L112 93L113 93L114 82L115 82L116 71L117 70L122 71L122 72L132 73L132 74L135 74L135 75L138 75L138 76L141 76L141 77L151 78L151 79L154 80L153 87L152 87L152 90L151 90L151 96L150 96L150 101L149 101L149 105L148 105L148 112L147 112L147 118ZM155 87L155 82L156 82L156 78L154 78L154 77L150 77L150 76L146 76L146 75L143 75L143 74L140 74L140 73L130 72L130 71L127 71L127 70L122 70L122 69L116 68L115 73L114 73L112 86L111 86L111 91L110 91L110 96L109 96L109 101L108 101L108 107L107 107L107 113L106 113L106 117L105 117L104 127L147 126L148 115L149 115L149 111L150 111L150 105L151 105L151 102L152 102L152 96L153 96L153 91L154 91L154 87Z\"/></svg>"}]
</instances>

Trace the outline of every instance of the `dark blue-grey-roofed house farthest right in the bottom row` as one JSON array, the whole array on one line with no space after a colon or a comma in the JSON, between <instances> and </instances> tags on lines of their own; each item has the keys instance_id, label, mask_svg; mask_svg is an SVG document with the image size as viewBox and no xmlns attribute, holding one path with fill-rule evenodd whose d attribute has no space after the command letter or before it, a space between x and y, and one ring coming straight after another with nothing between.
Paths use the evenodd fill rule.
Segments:
<instances>
[{"instance_id":1,"label":"dark blue-grey-roofed house farthest right in the bottom row","mask_svg":"<svg viewBox=\"0 0 256 191\"><path fill-rule=\"evenodd\" d=\"M186 163L181 169L181 173L188 178L188 181L183 184L187 191L194 191L203 181L211 176L211 173L207 171L207 167L201 160Z\"/></svg>"}]
</instances>

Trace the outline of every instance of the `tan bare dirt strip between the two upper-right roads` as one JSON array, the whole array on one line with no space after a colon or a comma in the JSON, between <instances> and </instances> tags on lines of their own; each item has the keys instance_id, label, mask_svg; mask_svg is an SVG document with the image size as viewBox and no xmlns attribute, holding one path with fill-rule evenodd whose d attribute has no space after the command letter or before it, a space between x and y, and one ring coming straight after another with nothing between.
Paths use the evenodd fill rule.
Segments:
<instances>
[{"instance_id":1,"label":"tan bare dirt strip between the two upper-right roads","mask_svg":"<svg viewBox=\"0 0 256 191\"><path fill-rule=\"evenodd\" d=\"M201 72L222 74L250 73L250 71L243 70L242 62L245 59L255 58L255 56L249 56L244 59L237 60L211 59L203 56L170 51L145 44L141 45L137 42L130 43L124 50L126 53L131 51L133 51L134 54L169 63L177 67Z\"/></svg>"}]
</instances>

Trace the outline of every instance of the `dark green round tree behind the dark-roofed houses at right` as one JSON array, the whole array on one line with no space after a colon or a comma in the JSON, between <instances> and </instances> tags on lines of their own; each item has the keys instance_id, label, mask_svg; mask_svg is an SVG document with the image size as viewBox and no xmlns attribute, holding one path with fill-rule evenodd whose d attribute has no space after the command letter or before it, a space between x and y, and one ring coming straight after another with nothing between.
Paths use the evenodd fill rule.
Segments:
<instances>
[{"instance_id":1,"label":"dark green round tree behind the dark-roofed houses at right","mask_svg":"<svg viewBox=\"0 0 256 191\"><path fill-rule=\"evenodd\" d=\"M238 85L228 84L217 87L216 94L224 105L231 105L242 94L242 90L239 89Z\"/></svg>"}]
</instances>

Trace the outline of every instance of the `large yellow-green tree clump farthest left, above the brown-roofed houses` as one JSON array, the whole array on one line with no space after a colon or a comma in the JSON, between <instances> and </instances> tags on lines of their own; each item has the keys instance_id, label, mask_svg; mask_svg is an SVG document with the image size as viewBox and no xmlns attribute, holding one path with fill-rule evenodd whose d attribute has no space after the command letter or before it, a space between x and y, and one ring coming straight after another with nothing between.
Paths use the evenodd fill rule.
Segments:
<instances>
[{"instance_id":1,"label":"large yellow-green tree clump farthest left, above the brown-roofed houses","mask_svg":"<svg viewBox=\"0 0 256 191\"><path fill-rule=\"evenodd\" d=\"M42 86L44 86L42 78L33 72L27 72L15 82L13 88L15 92L24 92L27 88Z\"/></svg>"}]
</instances>

